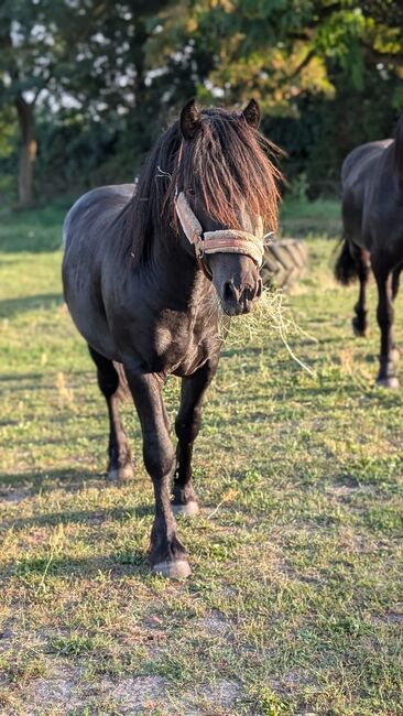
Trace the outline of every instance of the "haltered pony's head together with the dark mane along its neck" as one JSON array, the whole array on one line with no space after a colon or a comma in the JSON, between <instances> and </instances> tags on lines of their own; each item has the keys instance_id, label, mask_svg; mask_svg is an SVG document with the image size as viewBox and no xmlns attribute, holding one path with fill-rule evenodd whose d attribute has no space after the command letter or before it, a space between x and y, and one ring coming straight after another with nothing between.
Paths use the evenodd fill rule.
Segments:
<instances>
[{"instance_id":1,"label":"haltered pony's head together with the dark mane along its neck","mask_svg":"<svg viewBox=\"0 0 403 716\"><path fill-rule=\"evenodd\" d=\"M230 315L259 299L263 234L277 221L281 174L259 123L253 99L240 112L199 110L192 100L150 153L123 211L134 262L146 260L159 232L174 230Z\"/></svg>"}]
</instances>

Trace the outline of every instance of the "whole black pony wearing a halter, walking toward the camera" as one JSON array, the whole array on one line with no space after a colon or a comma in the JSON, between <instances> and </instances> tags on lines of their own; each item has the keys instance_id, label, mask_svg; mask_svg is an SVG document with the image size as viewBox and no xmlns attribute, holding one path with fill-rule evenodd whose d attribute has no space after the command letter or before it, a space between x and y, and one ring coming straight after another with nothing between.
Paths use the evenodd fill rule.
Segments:
<instances>
[{"instance_id":1,"label":"whole black pony wearing a halter, walking toward the camera","mask_svg":"<svg viewBox=\"0 0 403 716\"><path fill-rule=\"evenodd\" d=\"M190 460L219 360L219 313L248 313L259 299L262 227L276 224L279 173L259 122L254 100L243 112L199 111L192 100L135 187L89 192L64 225L65 299L108 405L108 476L132 474L119 415L126 376L155 493L150 562L173 578L190 572L173 510L198 509ZM162 399L168 373L182 378L176 460Z\"/></svg>"}]
</instances>

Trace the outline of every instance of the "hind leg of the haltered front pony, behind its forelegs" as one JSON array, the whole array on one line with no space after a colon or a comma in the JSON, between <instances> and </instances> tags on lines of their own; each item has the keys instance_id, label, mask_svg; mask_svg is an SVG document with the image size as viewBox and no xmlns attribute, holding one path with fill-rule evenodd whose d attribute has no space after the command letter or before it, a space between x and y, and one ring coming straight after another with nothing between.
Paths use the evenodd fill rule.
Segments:
<instances>
[{"instance_id":1,"label":"hind leg of the haltered front pony, behind its forelegs","mask_svg":"<svg viewBox=\"0 0 403 716\"><path fill-rule=\"evenodd\" d=\"M120 481L132 477L133 467L130 448L120 417L119 375L113 362L88 346L89 354L97 366L98 386L108 406L109 444L108 480Z\"/></svg>"}]
</instances>

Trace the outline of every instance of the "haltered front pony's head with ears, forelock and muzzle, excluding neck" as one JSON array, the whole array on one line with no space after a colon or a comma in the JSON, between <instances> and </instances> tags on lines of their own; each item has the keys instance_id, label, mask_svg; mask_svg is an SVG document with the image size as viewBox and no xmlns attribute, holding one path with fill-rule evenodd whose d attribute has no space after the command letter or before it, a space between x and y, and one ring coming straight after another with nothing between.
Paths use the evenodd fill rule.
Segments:
<instances>
[{"instance_id":1,"label":"haltered front pony's head with ears, forelock and muzzle, excluding neck","mask_svg":"<svg viewBox=\"0 0 403 716\"><path fill-rule=\"evenodd\" d=\"M242 112L200 111L192 100L179 120L172 177L176 227L230 315L248 313L261 295L263 227L276 226L280 173L259 123L253 99Z\"/></svg>"}]
</instances>

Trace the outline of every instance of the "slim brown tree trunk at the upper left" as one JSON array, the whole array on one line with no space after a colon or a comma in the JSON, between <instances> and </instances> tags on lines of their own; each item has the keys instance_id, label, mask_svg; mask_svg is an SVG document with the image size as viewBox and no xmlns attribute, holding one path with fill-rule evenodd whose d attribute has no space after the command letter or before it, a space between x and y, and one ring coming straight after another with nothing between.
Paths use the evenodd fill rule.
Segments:
<instances>
[{"instance_id":1,"label":"slim brown tree trunk at the upper left","mask_svg":"<svg viewBox=\"0 0 403 716\"><path fill-rule=\"evenodd\" d=\"M15 99L21 130L19 166L19 205L21 208L33 203L33 166L36 158L34 102L28 102L22 95Z\"/></svg>"}]
</instances>

